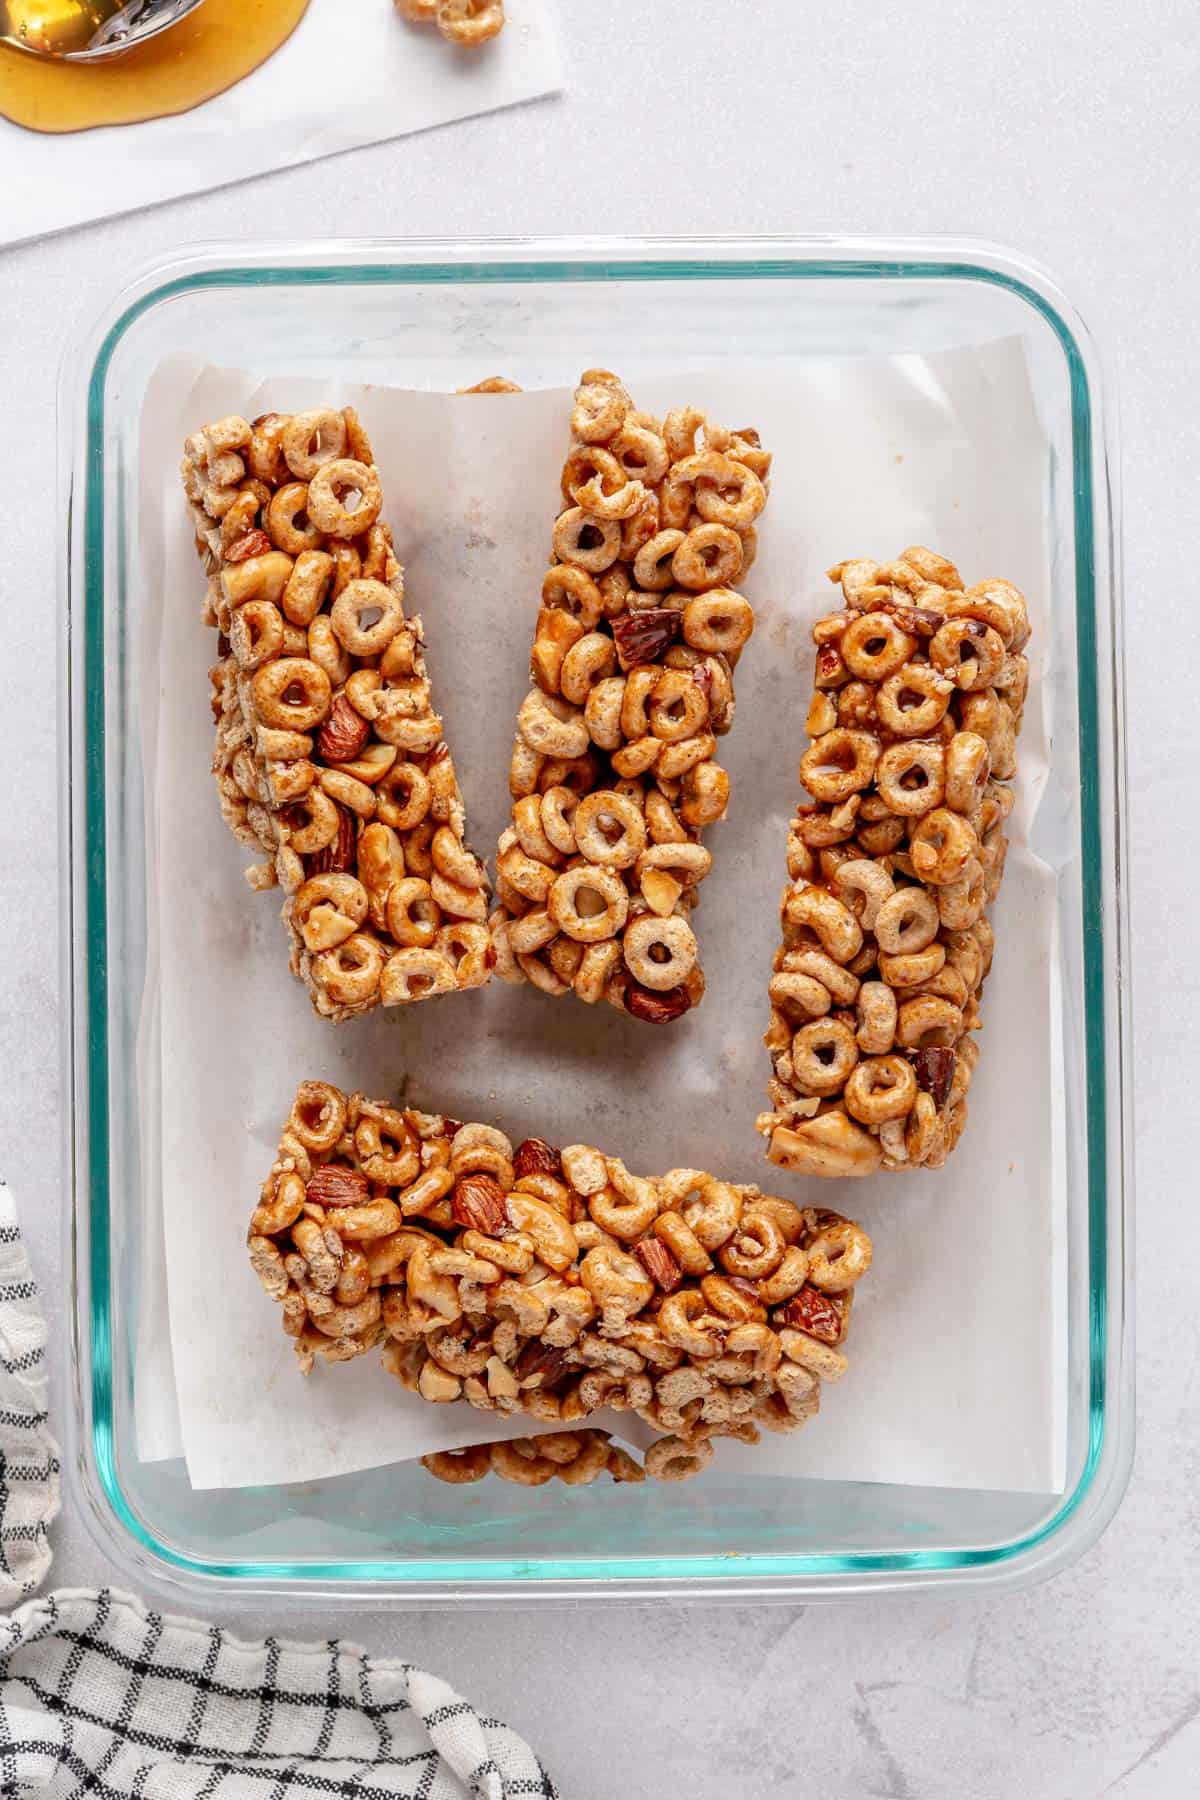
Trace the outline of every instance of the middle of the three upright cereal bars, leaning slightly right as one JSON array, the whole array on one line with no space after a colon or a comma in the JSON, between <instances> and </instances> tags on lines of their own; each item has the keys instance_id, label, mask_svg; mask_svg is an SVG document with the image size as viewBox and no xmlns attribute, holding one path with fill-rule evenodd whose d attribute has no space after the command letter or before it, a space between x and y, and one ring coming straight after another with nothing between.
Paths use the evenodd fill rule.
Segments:
<instances>
[{"instance_id":1,"label":"middle of the three upright cereal bars, leaning slightly right","mask_svg":"<svg viewBox=\"0 0 1200 1800\"><path fill-rule=\"evenodd\" d=\"M752 428L576 391L497 851L497 974L664 1024L703 995L691 923L725 815L718 738L754 630L770 454Z\"/></svg>"}]
</instances>

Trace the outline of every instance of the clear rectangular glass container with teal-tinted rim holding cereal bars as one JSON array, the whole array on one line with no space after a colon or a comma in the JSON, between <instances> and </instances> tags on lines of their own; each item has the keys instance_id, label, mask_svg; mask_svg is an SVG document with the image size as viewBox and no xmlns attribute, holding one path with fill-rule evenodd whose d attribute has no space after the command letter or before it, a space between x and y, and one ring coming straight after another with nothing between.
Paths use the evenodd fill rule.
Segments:
<instances>
[{"instance_id":1,"label":"clear rectangular glass container with teal-tinted rim holding cereal bars","mask_svg":"<svg viewBox=\"0 0 1200 1800\"><path fill-rule=\"evenodd\" d=\"M1004 335L1024 342L1047 439L1049 610L1070 671L1051 776L1069 835L1058 880L1065 1490L781 1481L714 1465L684 1490L531 1492L443 1487L401 1465L205 1492L182 1460L142 1460L137 1343L144 1309L164 1296L146 1291L139 1255L157 1220L144 1181L155 1121L140 1116L137 1082L155 1030L135 648L139 608L155 596L139 581L137 470L142 396L162 360L189 351L268 374L432 389L504 371L538 387L574 382L613 338L635 382L739 356L936 351ZM67 1411L72 1478L104 1553L131 1579L193 1597L428 1606L1015 1584L1094 1541L1124 1490L1133 1429L1117 472L1096 349L1052 281L970 243L203 247L140 274L68 355L61 443Z\"/></svg>"}]
</instances>

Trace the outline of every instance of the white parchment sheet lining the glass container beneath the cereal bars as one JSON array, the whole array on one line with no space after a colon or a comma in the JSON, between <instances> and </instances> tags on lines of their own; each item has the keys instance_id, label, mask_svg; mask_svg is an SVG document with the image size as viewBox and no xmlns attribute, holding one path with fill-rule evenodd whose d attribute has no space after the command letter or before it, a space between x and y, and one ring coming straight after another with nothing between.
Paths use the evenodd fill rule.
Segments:
<instances>
[{"instance_id":1,"label":"white parchment sheet lining the glass container beneath the cereal bars","mask_svg":"<svg viewBox=\"0 0 1200 1800\"><path fill-rule=\"evenodd\" d=\"M696 929L702 1008L653 1031L610 1008L495 983L344 1028L318 1021L286 972L279 895L245 887L246 851L219 823L200 625L201 576L175 454L227 410L356 403L383 475L385 517L426 621L430 666L489 855L507 819L513 718L525 691L536 594L567 441L569 392L475 398L333 389L200 371L175 360L146 403L142 491L158 650L146 751L158 868L160 1129L169 1327L182 1447L198 1487L309 1480L498 1435L493 1415L430 1408L376 1357L302 1381L241 1244L295 1085L324 1076L374 1094L502 1123L513 1138L588 1139L635 1170L703 1166L768 1192L838 1206L873 1233L855 1307L851 1372L820 1418L725 1465L916 1485L1056 1490L1063 1480L1065 1188L1054 1143L1061 1046L1052 1004L1054 877L1025 846L1047 781L1049 569L1045 443L1018 342L937 356L747 367L639 383L651 410L691 401L754 423L775 452L761 553L745 581L759 626L738 670L723 740L730 817L709 837L714 871ZM153 446L155 454L149 454ZM970 1127L946 1168L856 1183L772 1170L754 1134L765 1103L766 976L777 943L786 819L811 682L810 626L847 554L925 542L968 580L1004 574L1029 596L1033 682L1013 853L995 909ZM149 608L155 610L153 607ZM153 1327L148 1327L153 1328ZM144 1359L149 1345L142 1345ZM149 1381L149 1377L148 1377ZM164 1361L160 1381L169 1381ZM158 1454L169 1406L139 1393ZM151 1418L158 1429L151 1433ZM628 1429L628 1420L622 1422ZM527 1431L525 1422L515 1431ZM640 1435L633 1431L631 1435ZM166 1447L162 1447L166 1445Z\"/></svg>"}]
</instances>

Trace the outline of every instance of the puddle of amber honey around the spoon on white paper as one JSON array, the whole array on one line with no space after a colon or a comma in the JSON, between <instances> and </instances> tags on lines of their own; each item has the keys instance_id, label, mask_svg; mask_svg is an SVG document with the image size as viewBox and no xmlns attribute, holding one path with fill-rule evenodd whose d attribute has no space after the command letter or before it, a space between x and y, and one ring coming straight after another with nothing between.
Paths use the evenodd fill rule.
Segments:
<instances>
[{"instance_id":1,"label":"puddle of amber honey around the spoon on white paper","mask_svg":"<svg viewBox=\"0 0 1200 1800\"><path fill-rule=\"evenodd\" d=\"M308 0L205 0L158 38L99 63L0 43L0 115L29 131L86 131L189 112L259 68L306 11Z\"/></svg>"}]
</instances>

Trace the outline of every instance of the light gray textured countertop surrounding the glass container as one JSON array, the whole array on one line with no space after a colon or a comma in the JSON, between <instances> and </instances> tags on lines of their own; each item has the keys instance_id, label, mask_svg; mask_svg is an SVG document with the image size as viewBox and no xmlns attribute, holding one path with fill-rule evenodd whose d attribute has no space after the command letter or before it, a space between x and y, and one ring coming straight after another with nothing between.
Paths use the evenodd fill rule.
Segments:
<instances>
[{"instance_id":1,"label":"light gray textured countertop surrounding the glass container","mask_svg":"<svg viewBox=\"0 0 1200 1800\"><path fill-rule=\"evenodd\" d=\"M0 1170L61 1319L54 385L65 337L122 268L257 232L955 232L1027 250L1106 349L1124 437L1141 1354L1137 1465L1117 1521L1058 1580L1016 1597L362 1611L286 1629L345 1631L437 1669L524 1730L569 1800L1195 1793L1195 5L560 11L563 99L0 254ZM104 1577L68 1498L54 1579ZM237 1616L243 1631L273 1624Z\"/></svg>"}]
</instances>

